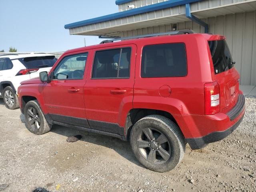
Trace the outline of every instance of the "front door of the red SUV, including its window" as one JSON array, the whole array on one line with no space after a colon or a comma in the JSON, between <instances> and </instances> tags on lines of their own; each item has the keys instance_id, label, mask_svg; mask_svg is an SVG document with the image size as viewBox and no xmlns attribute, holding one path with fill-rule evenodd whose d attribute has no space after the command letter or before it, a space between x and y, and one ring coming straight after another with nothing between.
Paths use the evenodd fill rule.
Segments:
<instances>
[{"instance_id":1,"label":"front door of the red SUV, including its window","mask_svg":"<svg viewBox=\"0 0 256 192\"><path fill-rule=\"evenodd\" d=\"M44 100L52 120L88 127L84 109L84 85L88 53L66 56L49 75Z\"/></svg>"}]
</instances>

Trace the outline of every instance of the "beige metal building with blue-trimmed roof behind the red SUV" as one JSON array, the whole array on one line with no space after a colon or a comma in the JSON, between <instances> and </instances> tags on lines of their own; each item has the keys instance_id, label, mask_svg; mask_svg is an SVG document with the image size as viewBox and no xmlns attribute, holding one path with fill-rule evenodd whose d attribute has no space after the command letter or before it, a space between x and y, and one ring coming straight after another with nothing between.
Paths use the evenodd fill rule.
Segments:
<instances>
[{"instance_id":1,"label":"beige metal building with blue-trimmed roof behind the red SUV","mask_svg":"<svg viewBox=\"0 0 256 192\"><path fill-rule=\"evenodd\" d=\"M192 29L227 37L242 85L256 85L256 0L116 0L119 12L65 25L72 35L127 37Z\"/></svg>"}]
</instances>

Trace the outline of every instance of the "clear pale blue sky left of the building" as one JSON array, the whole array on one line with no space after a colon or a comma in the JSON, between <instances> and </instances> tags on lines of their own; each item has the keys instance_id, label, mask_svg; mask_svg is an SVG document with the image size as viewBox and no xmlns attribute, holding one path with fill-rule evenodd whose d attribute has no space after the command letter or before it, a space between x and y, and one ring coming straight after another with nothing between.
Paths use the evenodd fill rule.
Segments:
<instances>
[{"instance_id":1,"label":"clear pale blue sky left of the building","mask_svg":"<svg viewBox=\"0 0 256 192\"><path fill-rule=\"evenodd\" d=\"M118 12L115 0L0 0L0 50L60 52L98 44L97 36L70 35L65 24Z\"/></svg>"}]
</instances>

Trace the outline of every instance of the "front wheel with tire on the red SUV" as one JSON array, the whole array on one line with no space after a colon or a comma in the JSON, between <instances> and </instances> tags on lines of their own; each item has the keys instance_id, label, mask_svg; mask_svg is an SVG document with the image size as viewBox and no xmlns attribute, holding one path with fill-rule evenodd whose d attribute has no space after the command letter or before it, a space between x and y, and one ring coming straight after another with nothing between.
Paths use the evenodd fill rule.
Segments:
<instances>
[{"instance_id":1,"label":"front wheel with tire on the red SUV","mask_svg":"<svg viewBox=\"0 0 256 192\"><path fill-rule=\"evenodd\" d=\"M46 121L37 100L27 102L24 115L26 128L34 134L42 135L52 128L52 125Z\"/></svg>"}]
</instances>

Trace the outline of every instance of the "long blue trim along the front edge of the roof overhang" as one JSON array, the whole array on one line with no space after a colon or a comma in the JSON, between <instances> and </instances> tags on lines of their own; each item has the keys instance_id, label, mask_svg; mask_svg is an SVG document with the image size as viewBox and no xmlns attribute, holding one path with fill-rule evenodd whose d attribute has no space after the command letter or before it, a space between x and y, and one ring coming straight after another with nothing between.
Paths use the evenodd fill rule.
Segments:
<instances>
[{"instance_id":1,"label":"long blue trim along the front edge of the roof overhang","mask_svg":"<svg viewBox=\"0 0 256 192\"><path fill-rule=\"evenodd\" d=\"M135 9L127 10L127 11L122 11L122 12L118 12L118 13L114 13L114 14L109 14L109 15L105 15L105 16L101 16L101 17L97 17L97 18L92 18L92 19L88 19L88 20L83 20L83 21L66 24L64 26L64 28L70 29L70 28L75 28L75 27L80 27L80 26L86 26L86 25L90 25L90 24L124 18L124 17L128 17L128 16L133 16L136 14L142 14L142 13L156 11L156 10L160 10L160 9L166 9L166 8L184 5L184 4L188 4L188 3L192 3L192 2L198 2L198 1L201 1L201 0L169 0L169 1L161 2L161 3L143 6L143 7L139 7L139 8L135 8Z\"/></svg>"}]
</instances>

